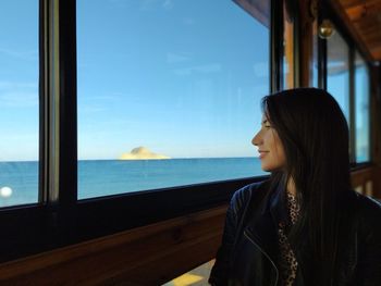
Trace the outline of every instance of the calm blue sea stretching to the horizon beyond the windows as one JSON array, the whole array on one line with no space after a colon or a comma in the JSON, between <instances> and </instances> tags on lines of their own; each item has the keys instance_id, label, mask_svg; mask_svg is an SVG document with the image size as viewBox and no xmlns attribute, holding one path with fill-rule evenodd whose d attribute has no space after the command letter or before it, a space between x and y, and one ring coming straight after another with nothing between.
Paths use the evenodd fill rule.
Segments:
<instances>
[{"instance_id":1,"label":"calm blue sea stretching to the horizon beyond the windows","mask_svg":"<svg viewBox=\"0 0 381 286\"><path fill-rule=\"evenodd\" d=\"M258 158L79 160L78 199L253 177ZM0 162L0 207L38 201L38 162Z\"/></svg>"}]
</instances>

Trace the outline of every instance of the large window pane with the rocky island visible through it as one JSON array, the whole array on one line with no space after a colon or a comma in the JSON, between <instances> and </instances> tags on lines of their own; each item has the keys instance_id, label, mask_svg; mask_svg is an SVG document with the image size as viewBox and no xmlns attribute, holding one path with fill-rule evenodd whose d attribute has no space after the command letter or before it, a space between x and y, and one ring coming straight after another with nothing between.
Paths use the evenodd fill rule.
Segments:
<instances>
[{"instance_id":1,"label":"large window pane with the rocky island visible through it","mask_svg":"<svg viewBox=\"0 0 381 286\"><path fill-rule=\"evenodd\" d=\"M262 174L268 2L77 1L79 199Z\"/></svg>"}]
</instances>

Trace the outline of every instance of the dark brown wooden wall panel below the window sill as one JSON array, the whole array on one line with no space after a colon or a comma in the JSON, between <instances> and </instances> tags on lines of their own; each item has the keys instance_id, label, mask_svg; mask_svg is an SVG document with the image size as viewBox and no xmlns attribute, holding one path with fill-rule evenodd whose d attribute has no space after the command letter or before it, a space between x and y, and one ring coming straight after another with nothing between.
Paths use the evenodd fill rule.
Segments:
<instances>
[{"instance_id":1,"label":"dark brown wooden wall panel below the window sill","mask_svg":"<svg viewBox=\"0 0 381 286\"><path fill-rule=\"evenodd\" d=\"M158 285L214 257L226 207L0 265L1 285Z\"/></svg>"}]
</instances>

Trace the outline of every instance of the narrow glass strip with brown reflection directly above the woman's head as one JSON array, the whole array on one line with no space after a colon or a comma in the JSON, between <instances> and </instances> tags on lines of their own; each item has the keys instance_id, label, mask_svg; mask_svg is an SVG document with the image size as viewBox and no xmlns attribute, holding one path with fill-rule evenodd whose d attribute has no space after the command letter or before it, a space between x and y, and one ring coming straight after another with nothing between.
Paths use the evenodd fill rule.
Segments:
<instances>
[{"instance_id":1,"label":"narrow glass strip with brown reflection directly above the woman's head","mask_svg":"<svg viewBox=\"0 0 381 286\"><path fill-rule=\"evenodd\" d=\"M284 1L283 5L283 88L294 87L294 15L291 1Z\"/></svg>"}]
</instances>

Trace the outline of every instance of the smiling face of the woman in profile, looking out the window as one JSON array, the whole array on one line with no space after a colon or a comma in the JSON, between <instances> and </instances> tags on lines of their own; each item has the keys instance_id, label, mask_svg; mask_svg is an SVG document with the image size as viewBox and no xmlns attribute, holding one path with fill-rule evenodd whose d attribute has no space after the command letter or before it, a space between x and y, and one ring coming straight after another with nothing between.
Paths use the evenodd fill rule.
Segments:
<instances>
[{"instance_id":1,"label":"smiling face of the woman in profile, looking out the window","mask_svg":"<svg viewBox=\"0 0 381 286\"><path fill-rule=\"evenodd\" d=\"M266 114L262 115L261 128L254 136L251 144L258 147L261 169L263 171L272 172L284 167L285 154L283 145Z\"/></svg>"}]
</instances>

